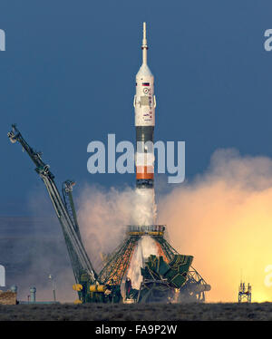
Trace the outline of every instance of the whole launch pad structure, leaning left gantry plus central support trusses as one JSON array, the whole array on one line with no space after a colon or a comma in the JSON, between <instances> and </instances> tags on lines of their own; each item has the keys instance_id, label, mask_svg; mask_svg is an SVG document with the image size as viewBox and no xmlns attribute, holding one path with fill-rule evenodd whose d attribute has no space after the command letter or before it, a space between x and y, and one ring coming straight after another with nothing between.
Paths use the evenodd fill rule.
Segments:
<instances>
[{"instance_id":1,"label":"whole launch pad structure, leaning left gantry plus central support trusses","mask_svg":"<svg viewBox=\"0 0 272 339\"><path fill-rule=\"evenodd\" d=\"M79 296L76 303L120 303L123 301L125 297L121 295L121 283L126 277L135 247L141 237L146 236L155 240L160 256L151 256L149 258L150 265L141 269L143 281L139 291L132 291L131 300L140 303L151 302L156 298L149 298L149 295L159 295L157 298L159 301L205 301L205 293L210 290L210 286L190 265L192 257L182 256L170 246L164 237L165 226L163 225L129 226L121 245L107 257L102 271L97 274L83 246L77 223L72 195L73 181L63 182L62 197L54 183L54 176L49 165L42 160L42 154L34 151L28 145L15 125L13 125L13 130L8 133L8 137L11 142L18 141L22 145L30 159L33 160L36 166L35 171L44 181L54 211L60 221L73 267L75 278L73 290L77 291ZM153 264L155 264L155 268ZM178 295L178 299L174 294ZM144 295L144 297L140 298L140 295Z\"/></svg>"}]
</instances>

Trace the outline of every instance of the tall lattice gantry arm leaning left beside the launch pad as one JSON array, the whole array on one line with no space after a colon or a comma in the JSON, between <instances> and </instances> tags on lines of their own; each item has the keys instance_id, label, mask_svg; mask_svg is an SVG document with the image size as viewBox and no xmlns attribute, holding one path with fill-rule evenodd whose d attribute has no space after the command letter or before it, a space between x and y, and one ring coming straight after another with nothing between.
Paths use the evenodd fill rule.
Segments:
<instances>
[{"instance_id":1,"label":"tall lattice gantry arm leaning left beside the launch pad","mask_svg":"<svg viewBox=\"0 0 272 339\"><path fill-rule=\"evenodd\" d=\"M79 294L79 303L88 302L90 301L88 299L90 299L91 296L93 297L93 293L90 294L90 291L104 292L106 286L100 285L98 276L83 246L73 204L72 191L74 182L72 180L63 182L62 199L55 185L54 176L49 165L45 164L42 160L42 153L36 152L29 146L15 124L12 125L12 131L7 135L12 143L18 141L22 145L23 150L26 151L30 159L34 162L35 171L44 181L44 185L53 203L54 211L60 221L63 237L73 267L73 275L76 282L76 284L73 285L73 289Z\"/></svg>"}]
</instances>

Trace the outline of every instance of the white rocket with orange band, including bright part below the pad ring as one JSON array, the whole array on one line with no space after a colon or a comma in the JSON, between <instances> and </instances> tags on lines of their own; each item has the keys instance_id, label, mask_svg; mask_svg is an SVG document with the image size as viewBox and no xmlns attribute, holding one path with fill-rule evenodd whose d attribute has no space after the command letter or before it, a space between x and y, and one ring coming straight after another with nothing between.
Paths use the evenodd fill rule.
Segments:
<instances>
[{"instance_id":1,"label":"white rocket with orange band, including bright part below the pad ring","mask_svg":"<svg viewBox=\"0 0 272 339\"><path fill-rule=\"evenodd\" d=\"M154 142L155 107L154 77L147 65L146 24L143 23L142 64L136 75L136 93L134 95L135 130L137 152L136 190L133 210L133 219L139 226L156 224L156 204L154 195L154 150L149 149L147 143ZM158 247L150 236L143 236L131 257L131 264L127 276L131 278L133 288L139 289L142 276L141 267L144 259L150 255L159 256Z\"/></svg>"}]
</instances>

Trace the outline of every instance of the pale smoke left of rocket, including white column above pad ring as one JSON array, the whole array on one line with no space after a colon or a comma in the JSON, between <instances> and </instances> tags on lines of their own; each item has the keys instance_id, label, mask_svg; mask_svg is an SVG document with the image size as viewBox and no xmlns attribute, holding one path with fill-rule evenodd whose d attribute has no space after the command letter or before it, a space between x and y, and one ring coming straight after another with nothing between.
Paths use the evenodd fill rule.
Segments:
<instances>
[{"instance_id":1,"label":"pale smoke left of rocket, including white column above pad ring","mask_svg":"<svg viewBox=\"0 0 272 339\"><path fill-rule=\"evenodd\" d=\"M95 267L100 254L109 254L126 235L128 225L152 225L155 204L153 189L109 189L85 186L77 200L83 242Z\"/></svg>"}]
</instances>

